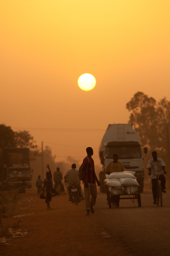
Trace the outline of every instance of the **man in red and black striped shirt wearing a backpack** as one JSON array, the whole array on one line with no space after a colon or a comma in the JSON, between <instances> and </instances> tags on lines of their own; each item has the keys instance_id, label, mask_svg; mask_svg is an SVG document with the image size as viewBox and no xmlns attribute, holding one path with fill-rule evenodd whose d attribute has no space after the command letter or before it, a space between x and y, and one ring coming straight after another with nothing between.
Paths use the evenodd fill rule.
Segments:
<instances>
[{"instance_id":1,"label":"man in red and black striped shirt wearing a backpack","mask_svg":"<svg viewBox=\"0 0 170 256\"><path fill-rule=\"evenodd\" d=\"M83 172L83 183L84 183L84 196L86 201L86 215L90 215L90 211L94 214L93 206L95 205L97 198L97 187L100 186L100 182L96 177L94 170L94 161L92 158L93 149L91 147L86 148L87 156L83 159L82 172ZM91 195L91 199L90 199Z\"/></svg>"}]
</instances>

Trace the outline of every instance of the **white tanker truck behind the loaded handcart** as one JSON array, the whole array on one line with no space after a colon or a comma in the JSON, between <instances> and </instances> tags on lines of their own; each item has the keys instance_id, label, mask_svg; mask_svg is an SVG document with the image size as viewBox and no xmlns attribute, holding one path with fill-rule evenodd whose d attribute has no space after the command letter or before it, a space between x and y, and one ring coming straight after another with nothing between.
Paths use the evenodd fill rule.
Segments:
<instances>
[{"instance_id":1,"label":"white tanker truck behind the loaded handcart","mask_svg":"<svg viewBox=\"0 0 170 256\"><path fill-rule=\"evenodd\" d=\"M106 167L113 161L113 154L118 154L126 171L135 171L140 185L139 191L143 192L144 170L142 167L142 152L140 137L132 128L132 124L109 124L99 146L100 162L103 165L99 173L100 192L105 193L107 186L103 180L106 178ZM147 147L144 147L147 153Z\"/></svg>"}]
</instances>

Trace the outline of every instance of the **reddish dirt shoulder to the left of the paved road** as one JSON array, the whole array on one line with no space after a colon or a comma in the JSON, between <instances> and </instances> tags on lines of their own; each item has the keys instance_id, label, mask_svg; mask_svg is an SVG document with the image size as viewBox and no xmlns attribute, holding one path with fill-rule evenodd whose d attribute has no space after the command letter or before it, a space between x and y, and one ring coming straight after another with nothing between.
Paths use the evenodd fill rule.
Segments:
<instances>
[{"instance_id":1,"label":"reddish dirt shoulder to the left of the paved road","mask_svg":"<svg viewBox=\"0 0 170 256\"><path fill-rule=\"evenodd\" d=\"M27 234L20 238L10 238L9 245L0 246L0 255L36 256L43 255L130 255L126 244L118 237L111 237L100 220L100 211L86 216L85 202L78 206L68 201L68 194L53 197L47 211L45 200L36 191L27 190L21 194L21 206L29 205L32 214L16 218L3 218L3 222L13 225L21 220L19 228ZM112 252L112 253L111 253Z\"/></svg>"}]
</instances>

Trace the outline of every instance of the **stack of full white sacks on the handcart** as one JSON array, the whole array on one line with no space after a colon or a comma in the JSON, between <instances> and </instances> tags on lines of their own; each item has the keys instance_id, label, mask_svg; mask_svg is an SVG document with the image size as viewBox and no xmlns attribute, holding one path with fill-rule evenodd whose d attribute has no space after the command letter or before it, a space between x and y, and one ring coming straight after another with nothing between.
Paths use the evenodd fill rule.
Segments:
<instances>
[{"instance_id":1,"label":"stack of full white sacks on the handcart","mask_svg":"<svg viewBox=\"0 0 170 256\"><path fill-rule=\"evenodd\" d=\"M135 172L132 171L106 174L104 182L109 187L109 191L114 195L134 194L138 191L139 183L133 174L135 175Z\"/></svg>"}]
</instances>

